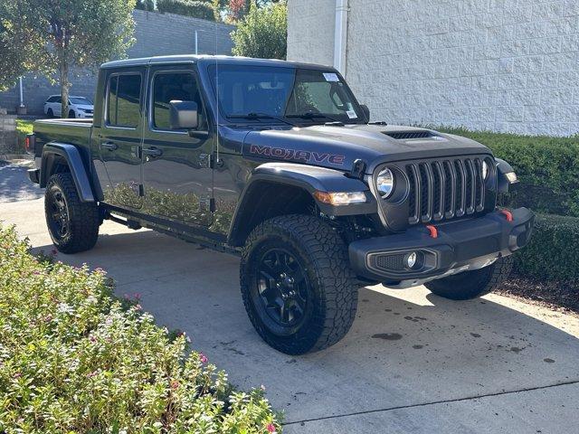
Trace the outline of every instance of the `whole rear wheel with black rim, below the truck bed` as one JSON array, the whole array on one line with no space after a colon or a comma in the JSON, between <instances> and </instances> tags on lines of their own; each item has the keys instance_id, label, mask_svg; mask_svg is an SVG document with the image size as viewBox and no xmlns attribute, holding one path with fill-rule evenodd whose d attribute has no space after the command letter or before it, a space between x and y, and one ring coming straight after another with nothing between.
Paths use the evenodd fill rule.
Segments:
<instances>
[{"instance_id":1,"label":"whole rear wheel with black rim, below the truck bed","mask_svg":"<svg viewBox=\"0 0 579 434\"><path fill-rule=\"evenodd\" d=\"M99 208L83 203L70 173L52 175L44 195L46 225L52 242L62 253L90 250L99 238Z\"/></svg>"}]
</instances>

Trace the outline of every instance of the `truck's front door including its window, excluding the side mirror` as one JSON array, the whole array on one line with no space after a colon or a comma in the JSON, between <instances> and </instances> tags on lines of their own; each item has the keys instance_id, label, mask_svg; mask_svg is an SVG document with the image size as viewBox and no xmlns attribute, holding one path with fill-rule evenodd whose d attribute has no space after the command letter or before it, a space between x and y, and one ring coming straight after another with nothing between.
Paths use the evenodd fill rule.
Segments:
<instances>
[{"instance_id":1,"label":"truck's front door including its window, excluding the side mirror","mask_svg":"<svg viewBox=\"0 0 579 434\"><path fill-rule=\"evenodd\" d=\"M147 126L143 136L143 210L154 216L208 227L213 221L214 143L191 65L151 67L148 74ZM169 123L171 100L195 101L199 127L194 137Z\"/></svg>"}]
</instances>

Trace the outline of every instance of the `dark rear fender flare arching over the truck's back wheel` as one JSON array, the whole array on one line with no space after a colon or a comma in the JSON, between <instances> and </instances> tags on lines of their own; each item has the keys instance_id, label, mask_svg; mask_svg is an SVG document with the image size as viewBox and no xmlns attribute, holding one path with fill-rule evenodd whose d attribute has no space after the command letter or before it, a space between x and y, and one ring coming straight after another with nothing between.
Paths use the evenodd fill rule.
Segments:
<instances>
[{"instance_id":1,"label":"dark rear fender flare arching over the truck's back wheel","mask_svg":"<svg viewBox=\"0 0 579 434\"><path fill-rule=\"evenodd\" d=\"M81 202L95 202L89 175L82 162L81 153L76 146L68 143L50 142L43 146L40 186L45 187L48 182L49 174L54 164L54 156L60 156L66 161Z\"/></svg>"}]
</instances>

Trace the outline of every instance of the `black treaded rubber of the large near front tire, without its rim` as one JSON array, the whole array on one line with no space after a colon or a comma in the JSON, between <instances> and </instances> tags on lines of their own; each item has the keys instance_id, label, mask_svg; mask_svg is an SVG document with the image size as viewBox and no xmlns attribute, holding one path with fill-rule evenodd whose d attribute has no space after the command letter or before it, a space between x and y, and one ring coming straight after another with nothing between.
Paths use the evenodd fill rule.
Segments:
<instances>
[{"instance_id":1,"label":"black treaded rubber of the large near front tire, without its rim","mask_svg":"<svg viewBox=\"0 0 579 434\"><path fill-rule=\"evenodd\" d=\"M308 269L313 270L315 285L322 288L322 307L325 317L319 327L314 327L311 335L291 343L280 342L261 324L251 307L251 278L244 269L252 247L269 235L280 235L293 241L309 260ZM349 265L346 244L338 234L314 216L290 214L274 217L262 222L249 235L242 250L240 266L242 298L252 325L261 337L272 347L286 354L305 354L315 352L336 344L350 329L356 317L357 286L356 276ZM281 340L283 341L283 340Z\"/></svg>"}]
</instances>

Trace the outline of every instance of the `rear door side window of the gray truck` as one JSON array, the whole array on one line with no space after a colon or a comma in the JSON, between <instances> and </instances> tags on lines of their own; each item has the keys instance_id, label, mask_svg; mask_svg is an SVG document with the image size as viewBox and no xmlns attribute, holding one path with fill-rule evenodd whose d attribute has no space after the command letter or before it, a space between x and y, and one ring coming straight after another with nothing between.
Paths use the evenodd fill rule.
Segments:
<instances>
[{"instance_id":1,"label":"rear door side window of the gray truck","mask_svg":"<svg viewBox=\"0 0 579 434\"><path fill-rule=\"evenodd\" d=\"M107 123L112 127L137 127L140 120L140 74L113 75L109 78Z\"/></svg>"}]
</instances>

